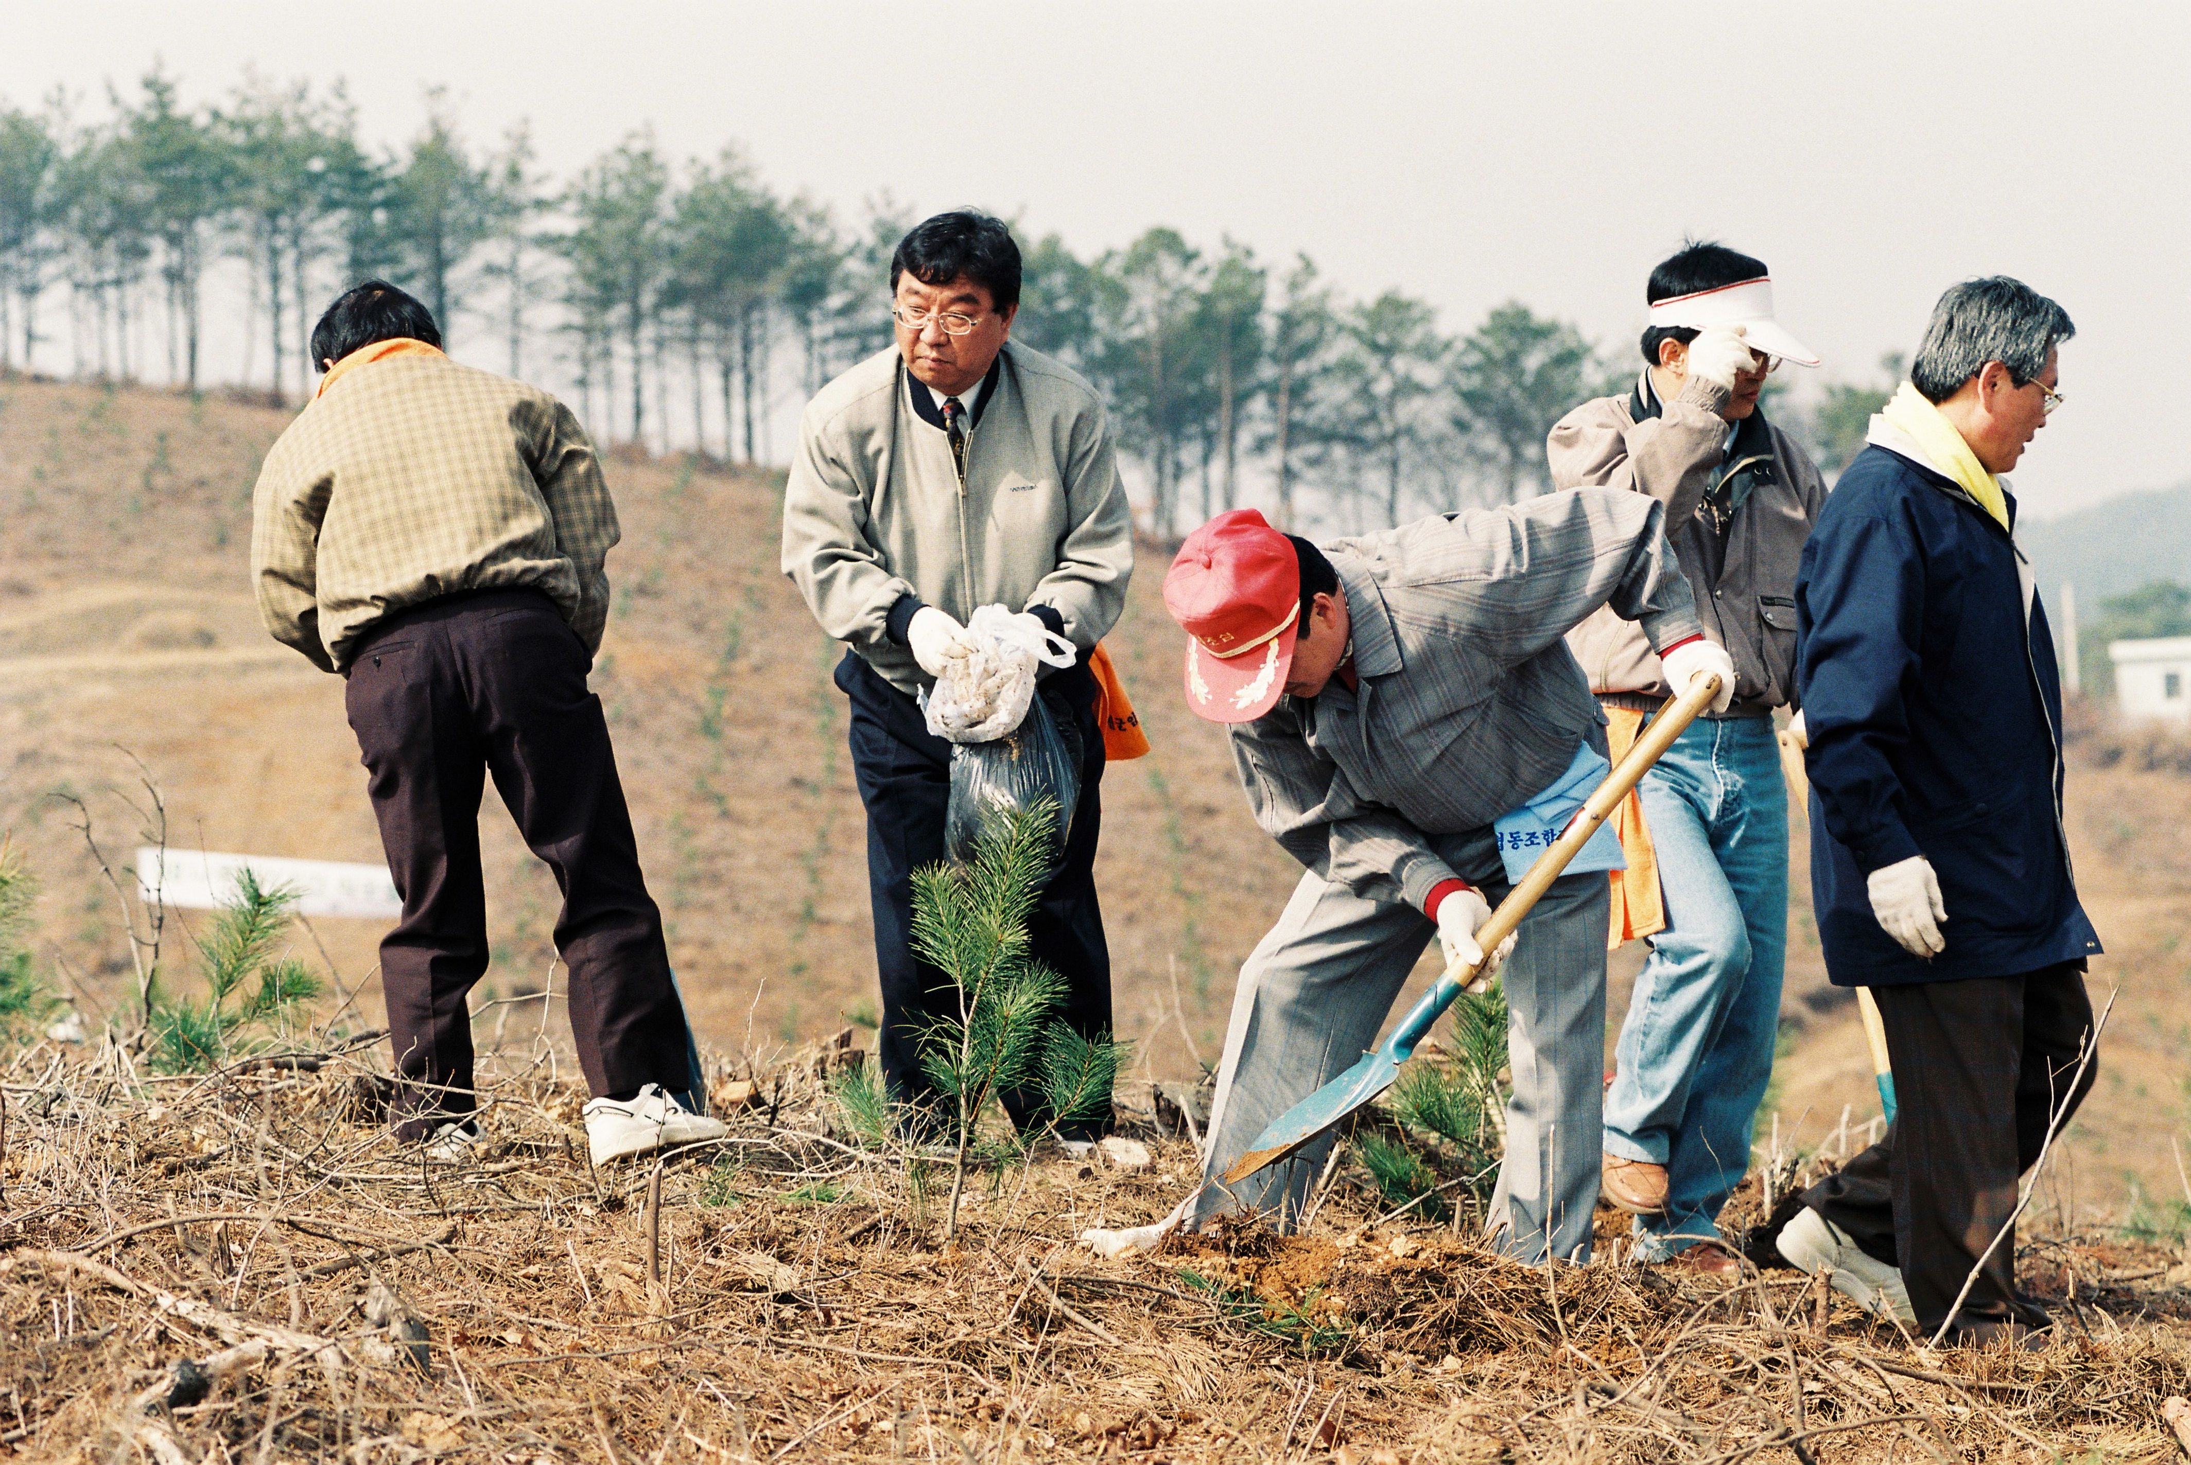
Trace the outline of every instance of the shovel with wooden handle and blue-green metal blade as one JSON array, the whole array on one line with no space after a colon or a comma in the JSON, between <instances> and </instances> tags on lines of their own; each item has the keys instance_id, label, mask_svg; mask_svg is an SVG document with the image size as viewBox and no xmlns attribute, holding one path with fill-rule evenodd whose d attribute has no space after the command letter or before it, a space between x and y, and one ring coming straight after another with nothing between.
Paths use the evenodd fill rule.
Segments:
<instances>
[{"instance_id":1,"label":"shovel with wooden handle and blue-green metal blade","mask_svg":"<svg viewBox=\"0 0 2191 1465\"><path fill-rule=\"evenodd\" d=\"M1477 944L1485 950L1499 950L1499 944L1514 935L1523 918L1538 902L1538 898L1551 889L1551 883L1560 878L1567 863L1575 858L1575 852L1588 843L1597 826L1613 817L1619 801L1628 797L1628 791L1637 786L1637 780L1650 771L1659 755L1683 734L1696 714L1711 705L1711 699L1720 694L1720 679L1705 677L1698 685L1689 688L1665 710L1652 718L1650 727L1637 738L1634 747L1628 749L1628 758L1613 769L1604 784L1597 786L1582 808L1569 821L1560 839L1553 841L1549 850L1536 856L1536 865L1529 874L1521 878L1507 898L1499 902L1492 918L1483 922L1477 931ZM1404 1018L1400 1027L1391 1031L1385 1042L1367 1053L1358 1064L1334 1077L1330 1084L1308 1095L1284 1115L1271 1121L1269 1128L1255 1139L1255 1147L1242 1154L1225 1172L1227 1185L1238 1185L1264 1165L1275 1165L1286 1158L1317 1134L1345 1119L1347 1115L1361 1110L1380 1093L1391 1088L1393 1080L1400 1077L1400 1064L1413 1056L1415 1045L1422 1042L1431 1025L1437 1023L1439 1014L1453 1005L1461 992L1481 992L1490 985L1490 979L1477 981L1475 966L1448 966L1429 992L1422 994Z\"/></svg>"}]
</instances>

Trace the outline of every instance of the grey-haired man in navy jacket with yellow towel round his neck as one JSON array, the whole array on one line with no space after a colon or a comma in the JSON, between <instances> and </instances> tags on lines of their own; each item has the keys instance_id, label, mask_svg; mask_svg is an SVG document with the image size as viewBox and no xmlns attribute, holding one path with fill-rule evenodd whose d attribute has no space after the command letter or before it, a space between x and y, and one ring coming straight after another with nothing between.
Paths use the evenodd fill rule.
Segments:
<instances>
[{"instance_id":1,"label":"grey-haired man in navy jacket with yellow towel round his neck","mask_svg":"<svg viewBox=\"0 0 2191 1465\"><path fill-rule=\"evenodd\" d=\"M1878 999L1900 1112L1779 1250L1963 1342L2046 1327L2009 1215L2095 1075L2055 648L1996 477L2062 401L2073 331L2018 280L1941 296L1797 580L1819 937Z\"/></svg>"}]
</instances>

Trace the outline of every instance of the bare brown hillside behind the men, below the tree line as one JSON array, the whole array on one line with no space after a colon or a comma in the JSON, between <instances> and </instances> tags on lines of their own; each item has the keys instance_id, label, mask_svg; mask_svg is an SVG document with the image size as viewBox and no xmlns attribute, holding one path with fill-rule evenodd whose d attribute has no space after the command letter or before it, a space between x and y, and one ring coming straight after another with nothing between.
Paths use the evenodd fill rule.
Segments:
<instances>
[{"instance_id":1,"label":"bare brown hillside behind the men, below the tree line","mask_svg":"<svg viewBox=\"0 0 2191 1465\"><path fill-rule=\"evenodd\" d=\"M379 861L342 683L265 639L245 585L250 488L285 420L213 396L0 383L0 830L46 880L42 955L92 1018L134 992L131 948L72 828L77 806L57 795L83 799L116 863L140 843L123 801L145 801L138 764L175 845ZM828 681L837 653L776 572L780 486L677 460L620 458L609 473L624 543L609 558L616 615L594 683L703 1040L762 1049L872 1020L863 817ZM1163 556L1144 554L1111 639L1157 751L1104 780L1098 880L1117 1029L1148 1073L1185 1077L1196 1060L1216 1064L1234 974L1297 872L1247 817L1223 734L1177 694L1161 572ZM2079 769L2070 788L2079 874L2112 953L2097 985L2125 981L2101 1097L2073 1150L2075 1200L2119 1200L2125 1174L2173 1196L2191 782ZM537 992L554 885L493 797L482 832L495 966L478 999ZM1875 1099L1854 1005L1823 985L1801 847L1790 896L1777 1104L1794 1145L1816 1143L1845 1108L1867 1119ZM381 928L316 920L311 935L313 964L375 1016ZM1615 957L1615 1012L1634 959ZM193 966L173 926L164 961ZM539 1020L530 1005L508 1012Z\"/></svg>"}]
</instances>

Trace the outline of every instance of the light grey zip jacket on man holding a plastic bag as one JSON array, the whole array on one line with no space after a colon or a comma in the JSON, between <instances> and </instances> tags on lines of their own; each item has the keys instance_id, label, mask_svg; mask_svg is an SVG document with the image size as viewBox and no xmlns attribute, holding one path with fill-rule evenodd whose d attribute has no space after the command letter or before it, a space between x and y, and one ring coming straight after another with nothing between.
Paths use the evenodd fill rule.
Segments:
<instances>
[{"instance_id":1,"label":"light grey zip jacket on man holding a plastic bag","mask_svg":"<svg viewBox=\"0 0 2191 1465\"><path fill-rule=\"evenodd\" d=\"M1133 576L1133 512L1102 396L1071 368L1006 344L966 438L966 482L914 412L892 346L806 403L784 486L784 574L822 628L901 692L931 677L887 633L916 596L957 620L1049 607L1089 650ZM903 635L903 631L901 631Z\"/></svg>"}]
</instances>

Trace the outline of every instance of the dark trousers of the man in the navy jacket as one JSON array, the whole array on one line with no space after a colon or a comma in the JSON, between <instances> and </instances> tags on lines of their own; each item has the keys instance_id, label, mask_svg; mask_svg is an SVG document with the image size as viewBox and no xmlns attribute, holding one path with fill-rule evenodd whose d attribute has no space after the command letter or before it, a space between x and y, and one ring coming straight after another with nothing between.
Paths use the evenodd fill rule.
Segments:
<instances>
[{"instance_id":1,"label":"dark trousers of the man in the navy jacket","mask_svg":"<svg viewBox=\"0 0 2191 1465\"><path fill-rule=\"evenodd\" d=\"M2016 1211L2016 1180L2040 1158L2046 1126L2077 1112L2099 1060L2084 964L2018 977L1871 988L1895 1066L1895 1123L1803 1204L1867 1255L1902 1268L1922 1334L1939 1329L1963 1279ZM2070 1093L2070 1084L2077 1084ZM2016 1235L1985 1259L1957 1312L1976 1323L2042 1325L2016 1294Z\"/></svg>"}]
</instances>

